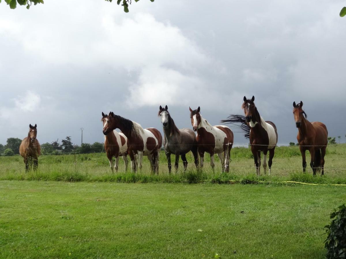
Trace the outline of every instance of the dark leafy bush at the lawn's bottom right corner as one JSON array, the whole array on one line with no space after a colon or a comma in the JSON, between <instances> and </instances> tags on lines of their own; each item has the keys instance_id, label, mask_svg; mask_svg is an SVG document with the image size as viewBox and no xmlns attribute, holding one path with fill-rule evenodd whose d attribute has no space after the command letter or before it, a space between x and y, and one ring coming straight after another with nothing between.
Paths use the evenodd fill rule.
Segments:
<instances>
[{"instance_id":1,"label":"dark leafy bush at the lawn's bottom right corner","mask_svg":"<svg viewBox=\"0 0 346 259\"><path fill-rule=\"evenodd\" d=\"M338 211L330 214L333 219L330 225L325 226L328 234L325 240L327 248L326 258L346 258L346 207L345 204L339 207Z\"/></svg>"}]
</instances>

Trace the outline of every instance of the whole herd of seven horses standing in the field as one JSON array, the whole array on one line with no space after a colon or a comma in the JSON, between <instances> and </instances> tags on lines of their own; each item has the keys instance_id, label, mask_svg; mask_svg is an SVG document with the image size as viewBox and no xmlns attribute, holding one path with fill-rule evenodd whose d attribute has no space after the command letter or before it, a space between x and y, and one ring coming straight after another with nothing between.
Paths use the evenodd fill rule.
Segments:
<instances>
[{"instance_id":1,"label":"whole herd of seven horses standing in the field","mask_svg":"<svg viewBox=\"0 0 346 259\"><path fill-rule=\"evenodd\" d=\"M263 153L263 170L267 169L271 173L271 166L274 157L274 151L277 144L276 126L271 121L264 121L260 116L255 103L255 97L247 99L244 96L242 109L244 115L230 115L227 119L221 120L222 123L230 123L240 128L245 137L249 138L251 152L254 156L256 174L260 175L261 152ZM310 123L307 115L302 109L303 103L295 104L293 102L293 115L296 127L298 128L297 140L302 155L303 172L306 171L307 150L310 152L310 166L313 174L321 169L324 174L324 156L327 146L327 128L321 122ZM189 107L190 108L190 107ZM171 173L171 154L175 155L175 172L178 170L179 157L181 156L184 171L187 168L188 161L186 153L192 152L194 163L197 168L203 167L204 153L210 154L210 165L214 171L215 162L214 154L217 154L223 172L229 172L230 151L234 143L233 132L225 125L212 126L206 119L201 116L200 107L195 110L190 108L190 118L192 129L178 129L175 126L167 105L163 108L160 106L158 116L161 118L163 126L164 139L160 131L156 128L142 128L138 123L130 121L119 115L110 112L108 115L102 112L103 134L105 135L104 149L106 151L111 170L115 168L118 171L119 157L122 156L125 162L125 171L127 171L128 160L127 154L131 159L132 172L142 169L143 155L148 156L151 164L151 172L158 174L158 161L162 144L167 156L168 169ZM116 129L121 132L117 132ZM197 135L194 133L197 132ZM30 165L34 164L34 170L38 166L38 156L41 154L40 145L36 138L37 125L29 125L29 133L23 139L19 152L24 157L25 169L29 170ZM115 157L113 166L112 158Z\"/></svg>"}]
</instances>

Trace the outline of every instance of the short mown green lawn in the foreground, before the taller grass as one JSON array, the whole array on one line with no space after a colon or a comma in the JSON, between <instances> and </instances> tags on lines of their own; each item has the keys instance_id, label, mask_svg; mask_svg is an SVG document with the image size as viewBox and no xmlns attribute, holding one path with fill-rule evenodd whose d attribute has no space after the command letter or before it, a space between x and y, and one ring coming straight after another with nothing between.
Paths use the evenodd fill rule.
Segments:
<instances>
[{"instance_id":1,"label":"short mown green lawn in the foreground, before the taller grass","mask_svg":"<svg viewBox=\"0 0 346 259\"><path fill-rule=\"evenodd\" d=\"M1 258L324 258L345 186L0 181Z\"/></svg>"}]
</instances>

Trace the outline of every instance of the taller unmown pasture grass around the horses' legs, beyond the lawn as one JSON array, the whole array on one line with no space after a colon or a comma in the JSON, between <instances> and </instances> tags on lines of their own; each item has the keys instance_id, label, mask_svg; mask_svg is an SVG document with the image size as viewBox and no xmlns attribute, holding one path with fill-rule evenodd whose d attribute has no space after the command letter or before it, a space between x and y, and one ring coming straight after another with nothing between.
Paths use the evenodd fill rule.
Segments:
<instances>
[{"instance_id":1,"label":"taller unmown pasture grass around the horses' legs, beyond the lawn","mask_svg":"<svg viewBox=\"0 0 346 259\"><path fill-rule=\"evenodd\" d=\"M273 159L272 176L255 176L252 153L249 148L235 147L231 151L230 173L221 174L218 157L215 156L215 173L210 167L210 158L206 154L203 171L197 172L192 160L191 152L186 156L189 165L183 174L182 161L180 160L178 174L168 174L167 159L164 152L160 155L159 175L154 176L149 172L149 162L143 159L142 173L127 173L120 159L119 172L112 174L109 162L104 153L74 154L71 155L43 155L39 157L39 170L25 173L22 157L0 156L0 180L54 180L54 181L108 181L108 182L198 182L211 180L212 182L268 182L268 181L303 181L311 183L346 183L346 145L328 146L325 157L325 176L312 177L312 170L308 166L307 173L302 174L301 155L297 146L277 147ZM309 154L307 153L307 157ZM174 157L172 156L174 164ZM308 163L309 164L309 163ZM173 169L173 172L175 170ZM263 169L261 170L263 174Z\"/></svg>"}]
</instances>

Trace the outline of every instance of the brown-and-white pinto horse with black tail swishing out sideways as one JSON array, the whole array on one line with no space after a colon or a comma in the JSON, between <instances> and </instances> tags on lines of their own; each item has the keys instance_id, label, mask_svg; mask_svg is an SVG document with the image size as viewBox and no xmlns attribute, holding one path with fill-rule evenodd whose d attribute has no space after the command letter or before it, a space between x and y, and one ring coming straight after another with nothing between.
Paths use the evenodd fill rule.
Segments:
<instances>
[{"instance_id":1,"label":"brown-and-white pinto horse with black tail swishing out sideways","mask_svg":"<svg viewBox=\"0 0 346 259\"><path fill-rule=\"evenodd\" d=\"M238 127L245 132L245 137L249 138L251 145L251 152L254 156L256 175L260 175L261 170L261 152L263 152L263 170L264 174L267 169L267 152L269 151L269 175L271 174L271 167L277 144L277 130L276 126L271 121L264 121L257 111L252 96L251 100L244 96L244 103L242 109L245 116L230 115L227 119L222 120L223 123L231 123L238 125ZM240 124L240 126L239 126Z\"/></svg>"}]
</instances>

